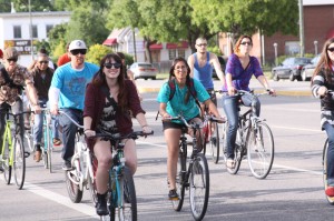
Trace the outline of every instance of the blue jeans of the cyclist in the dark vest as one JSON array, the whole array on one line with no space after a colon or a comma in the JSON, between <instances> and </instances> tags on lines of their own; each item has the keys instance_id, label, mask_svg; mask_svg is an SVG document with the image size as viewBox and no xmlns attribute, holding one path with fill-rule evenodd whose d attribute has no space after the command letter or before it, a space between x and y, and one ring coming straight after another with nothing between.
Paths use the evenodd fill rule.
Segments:
<instances>
[{"instance_id":1,"label":"blue jeans of the cyclist in the dark vest","mask_svg":"<svg viewBox=\"0 0 334 221\"><path fill-rule=\"evenodd\" d=\"M49 107L49 103L47 100L39 100L38 103L40 107ZM45 112L42 111L39 114L35 114L33 118L33 144L41 144L41 139L43 134L43 118L45 118ZM53 138L59 138L59 132L58 132L58 120L57 117L52 117L51 120L52 124L52 134Z\"/></svg>"}]
</instances>

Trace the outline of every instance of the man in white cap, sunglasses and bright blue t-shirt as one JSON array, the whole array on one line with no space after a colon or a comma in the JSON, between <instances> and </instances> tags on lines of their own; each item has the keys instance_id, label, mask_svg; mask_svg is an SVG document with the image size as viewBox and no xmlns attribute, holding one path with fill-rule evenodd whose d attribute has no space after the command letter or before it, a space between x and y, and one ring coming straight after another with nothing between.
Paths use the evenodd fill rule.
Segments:
<instances>
[{"instance_id":1,"label":"man in white cap, sunglasses and bright blue t-shirt","mask_svg":"<svg viewBox=\"0 0 334 221\"><path fill-rule=\"evenodd\" d=\"M79 124L82 124L82 110L86 86L91 81L99 67L85 61L87 52L82 40L73 40L69 44L68 56L71 61L57 68L49 89L50 111L58 114L61 109ZM63 170L71 170L71 158L75 152L75 138L77 127L66 115L58 117L62 128L62 153Z\"/></svg>"}]
</instances>

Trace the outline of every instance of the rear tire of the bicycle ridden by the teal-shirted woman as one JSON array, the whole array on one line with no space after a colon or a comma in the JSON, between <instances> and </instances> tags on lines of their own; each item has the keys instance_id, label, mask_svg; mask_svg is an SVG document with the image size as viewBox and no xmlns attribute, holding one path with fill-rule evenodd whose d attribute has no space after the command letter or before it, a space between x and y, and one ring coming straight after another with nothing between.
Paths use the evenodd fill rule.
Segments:
<instances>
[{"instance_id":1,"label":"rear tire of the bicycle ridden by the teal-shirted woman","mask_svg":"<svg viewBox=\"0 0 334 221\"><path fill-rule=\"evenodd\" d=\"M187 171L187 145L180 147L178 153L177 174L175 179L178 200L171 200L173 209L177 212L181 210L185 200L185 189L187 185L186 171Z\"/></svg>"}]
</instances>

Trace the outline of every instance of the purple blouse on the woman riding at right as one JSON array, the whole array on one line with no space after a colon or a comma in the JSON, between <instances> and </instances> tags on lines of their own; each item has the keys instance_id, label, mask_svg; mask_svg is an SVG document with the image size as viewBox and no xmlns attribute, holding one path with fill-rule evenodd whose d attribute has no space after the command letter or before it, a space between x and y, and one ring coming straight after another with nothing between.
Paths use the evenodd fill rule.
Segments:
<instances>
[{"instance_id":1,"label":"purple blouse on the woman riding at right","mask_svg":"<svg viewBox=\"0 0 334 221\"><path fill-rule=\"evenodd\" d=\"M255 78L263 76L263 71L257 58L250 56L249 64L247 66L246 70L244 70L239 58L235 53L229 56L225 73L232 74L232 83L235 89L246 91L250 90L248 86L253 74ZM223 91L227 91L226 82Z\"/></svg>"}]
</instances>

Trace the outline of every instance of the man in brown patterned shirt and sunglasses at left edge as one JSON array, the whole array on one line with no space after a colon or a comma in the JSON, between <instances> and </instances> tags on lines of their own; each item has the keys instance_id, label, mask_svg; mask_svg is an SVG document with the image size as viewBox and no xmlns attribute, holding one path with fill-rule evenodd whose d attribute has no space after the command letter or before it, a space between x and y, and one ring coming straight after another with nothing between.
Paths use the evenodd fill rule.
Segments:
<instances>
[{"instance_id":1,"label":"man in brown patterned shirt and sunglasses at left edge","mask_svg":"<svg viewBox=\"0 0 334 221\"><path fill-rule=\"evenodd\" d=\"M22 90L26 87L28 98L36 113L40 113L36 89L33 87L32 76L27 68L17 63L19 52L13 47L9 47L3 52L4 68L0 70L0 152L2 148L2 135L4 132L4 117L6 111L11 109L12 112L18 113L23 111L23 102L20 98ZM24 132L23 115L19 118L20 134L23 140ZM24 152L28 157L29 153Z\"/></svg>"}]
</instances>

